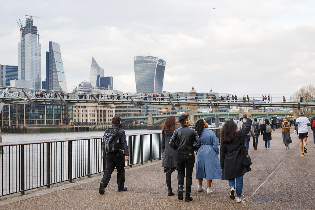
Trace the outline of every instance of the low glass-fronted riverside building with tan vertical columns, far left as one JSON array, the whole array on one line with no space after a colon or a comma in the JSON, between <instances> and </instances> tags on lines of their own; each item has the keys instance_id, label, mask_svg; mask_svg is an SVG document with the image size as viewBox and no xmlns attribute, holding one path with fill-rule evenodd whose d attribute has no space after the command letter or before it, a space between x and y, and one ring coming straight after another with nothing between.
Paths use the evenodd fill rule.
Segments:
<instances>
[{"instance_id":1,"label":"low glass-fronted riverside building with tan vertical columns, far left","mask_svg":"<svg viewBox=\"0 0 315 210\"><path fill-rule=\"evenodd\" d=\"M71 125L72 105L5 104L0 114L1 126Z\"/></svg>"}]
</instances>

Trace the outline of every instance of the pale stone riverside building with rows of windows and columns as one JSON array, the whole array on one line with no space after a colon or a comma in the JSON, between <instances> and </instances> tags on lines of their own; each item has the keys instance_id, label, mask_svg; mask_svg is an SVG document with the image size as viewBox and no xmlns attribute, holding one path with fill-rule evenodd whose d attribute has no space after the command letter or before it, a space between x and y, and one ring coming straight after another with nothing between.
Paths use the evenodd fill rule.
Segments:
<instances>
[{"instance_id":1,"label":"pale stone riverside building with rows of windows and columns","mask_svg":"<svg viewBox=\"0 0 315 210\"><path fill-rule=\"evenodd\" d=\"M73 125L111 124L115 116L115 106L77 103L73 105Z\"/></svg>"}]
</instances>

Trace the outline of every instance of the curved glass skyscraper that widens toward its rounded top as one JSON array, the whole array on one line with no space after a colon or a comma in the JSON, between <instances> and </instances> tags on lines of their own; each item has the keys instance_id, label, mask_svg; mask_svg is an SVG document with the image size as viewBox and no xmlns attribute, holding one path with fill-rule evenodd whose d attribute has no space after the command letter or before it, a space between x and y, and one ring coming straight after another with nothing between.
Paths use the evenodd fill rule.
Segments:
<instances>
[{"instance_id":1,"label":"curved glass skyscraper that widens toward its rounded top","mask_svg":"<svg viewBox=\"0 0 315 210\"><path fill-rule=\"evenodd\" d=\"M162 93L166 62L153 56L135 56L137 92Z\"/></svg>"}]
</instances>

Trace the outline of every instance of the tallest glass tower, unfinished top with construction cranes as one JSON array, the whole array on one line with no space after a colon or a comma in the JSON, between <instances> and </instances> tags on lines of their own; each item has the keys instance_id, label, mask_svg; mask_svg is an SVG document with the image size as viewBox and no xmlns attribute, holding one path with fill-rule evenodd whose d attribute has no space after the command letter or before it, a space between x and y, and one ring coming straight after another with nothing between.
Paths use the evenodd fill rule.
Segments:
<instances>
[{"instance_id":1,"label":"tallest glass tower, unfinished top with construction cranes","mask_svg":"<svg viewBox=\"0 0 315 210\"><path fill-rule=\"evenodd\" d=\"M29 81L32 88L41 88L42 45L37 26L33 26L33 18L26 18L25 26L20 26L19 79Z\"/></svg>"}]
</instances>

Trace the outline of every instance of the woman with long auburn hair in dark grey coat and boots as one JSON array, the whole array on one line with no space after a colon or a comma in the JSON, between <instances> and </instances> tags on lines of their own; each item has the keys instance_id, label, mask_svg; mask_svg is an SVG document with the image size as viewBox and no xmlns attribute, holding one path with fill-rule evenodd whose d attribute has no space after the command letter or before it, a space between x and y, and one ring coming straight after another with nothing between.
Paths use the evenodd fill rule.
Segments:
<instances>
[{"instance_id":1,"label":"woman with long auburn hair in dark grey coat and boots","mask_svg":"<svg viewBox=\"0 0 315 210\"><path fill-rule=\"evenodd\" d=\"M169 146L169 140L176 129L176 125L177 120L173 115L166 118L162 125L162 149L164 151L162 167L164 167L164 173L166 173L166 185L169 189L167 195L169 196L175 195L171 188L171 178L172 172L177 170L176 150Z\"/></svg>"}]
</instances>

